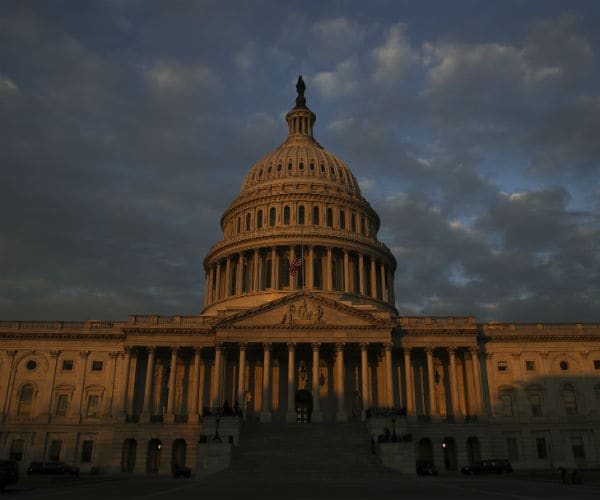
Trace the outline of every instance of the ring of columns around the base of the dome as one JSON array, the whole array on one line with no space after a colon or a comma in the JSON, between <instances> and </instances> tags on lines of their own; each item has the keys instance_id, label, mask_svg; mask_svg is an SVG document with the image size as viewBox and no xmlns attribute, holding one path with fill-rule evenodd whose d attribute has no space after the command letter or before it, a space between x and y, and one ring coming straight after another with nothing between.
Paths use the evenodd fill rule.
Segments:
<instances>
[{"instance_id":1,"label":"ring of columns around the base of the dome","mask_svg":"<svg viewBox=\"0 0 600 500\"><path fill-rule=\"evenodd\" d=\"M223 299L225 297L234 296L234 295L242 295L244 292L243 284L244 284L244 264L246 264L248 269L252 269L251 277L248 280L248 290L258 291L260 289L261 282L261 274L266 272L266 269L262 269L261 262L267 262L266 259L261 259L261 253L263 255L270 254L270 265L271 265L271 283L269 284L270 288L277 289L279 284L279 267L280 267L280 252L278 248L285 247L272 247L270 249L254 249L253 253L239 253L234 255L229 255L225 257L225 259L217 261L216 264L211 266L206 274L206 294L204 298L204 305L207 306L216 302L217 300ZM315 263L315 246L307 246L304 248L304 259L305 259L305 277L306 284L305 288L307 290L312 290L315 288L314 284L314 263ZM319 248L322 248L319 246ZM290 246L288 248L289 262L292 262L294 258L300 257L300 255L296 255L296 246ZM343 253L343 290L344 292L351 292L351 273L350 273L350 252L348 250L342 249ZM369 259L371 262L370 273L369 276L365 276L365 264L366 260ZM223 262L224 260L224 262ZM235 262L236 265L232 265ZM325 256L324 256L324 269L323 269L323 283L321 288L325 291L333 290L333 249L331 247L325 248ZM394 304L394 287L393 287L393 276L391 271L383 262L377 262L375 259L366 256L365 254L359 253L358 258L355 261L355 264L358 267L358 283L354 284L355 289L357 289L360 295L367 294L367 283L366 280L369 280L370 284L370 297L377 299L378 297L383 298L383 300ZM223 273L223 268L225 268L225 273ZM235 277L233 276L233 269L235 268ZM286 270L287 272L287 270ZM298 271L299 273L302 270ZM378 286L378 276L379 273L379 286ZM224 277L223 277L224 274ZM225 283L222 283L224 279ZM235 283L235 293L232 292L231 284ZM358 285L358 286L356 286Z\"/></svg>"}]
</instances>

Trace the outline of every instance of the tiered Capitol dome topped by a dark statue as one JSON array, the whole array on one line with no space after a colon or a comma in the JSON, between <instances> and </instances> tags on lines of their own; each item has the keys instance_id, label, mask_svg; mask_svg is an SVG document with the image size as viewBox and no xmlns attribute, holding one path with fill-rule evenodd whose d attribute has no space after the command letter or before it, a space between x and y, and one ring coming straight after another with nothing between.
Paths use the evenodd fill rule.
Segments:
<instances>
[{"instance_id":1,"label":"tiered Capitol dome topped by a dark statue","mask_svg":"<svg viewBox=\"0 0 600 500\"><path fill-rule=\"evenodd\" d=\"M377 240L379 217L348 166L315 140L301 77L296 89L287 139L250 169L221 217L223 240L204 260L204 313L299 289L395 312L396 261Z\"/></svg>"}]
</instances>

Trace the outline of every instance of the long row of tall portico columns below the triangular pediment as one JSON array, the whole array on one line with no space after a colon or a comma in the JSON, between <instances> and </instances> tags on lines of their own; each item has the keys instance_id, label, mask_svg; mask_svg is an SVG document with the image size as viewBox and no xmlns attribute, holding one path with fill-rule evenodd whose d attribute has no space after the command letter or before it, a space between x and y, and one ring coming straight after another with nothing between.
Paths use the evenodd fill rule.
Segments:
<instances>
[{"instance_id":1,"label":"long row of tall portico columns below the triangular pediment","mask_svg":"<svg viewBox=\"0 0 600 500\"><path fill-rule=\"evenodd\" d=\"M244 377L246 367L246 343L238 344L239 347L239 360L238 360L238 381L237 381L237 400L244 400ZM319 400L319 359L320 359L320 343L312 343L312 396L313 396L313 419L318 421L321 416L320 412L320 400ZM364 410L373 406L371 401L371 391L369 390L369 375L368 375L368 343L360 344L360 373L361 373L361 403ZM345 410L345 382L344 382L344 343L335 344L335 356L334 356L334 377L333 377L333 389L336 398L336 420L343 421L347 418ZM154 380L154 364L155 364L155 348L149 347L148 349L148 361L146 365L146 379L144 388L144 403L141 420L145 421L150 418L152 413L152 382ZM262 407L260 408L260 418L262 421L271 420L271 343L263 344L263 371L262 371ZM288 377L287 377L287 415L290 419L296 418L296 363L295 363L295 343L288 343ZM450 397L452 404L452 411L456 415L459 413L459 391L458 391L458 376L456 367L456 347L445 348L449 357L449 388ZM428 399L429 399L429 411L430 414L434 415L438 413L437 408L437 397L435 393L435 368L433 362L433 351L434 348L425 348L426 363L427 363L427 380L428 380ZM472 378L474 386L470 388L470 399L473 402L473 407L476 413L480 413L483 408L482 392L481 392L481 370L479 365L478 348L470 348L472 356ZM126 350L126 368L124 373L124 387L129 386L130 377L130 360L131 360L131 349ZM201 367L201 348L194 349L194 362L191 370L191 400L188 405L188 422L194 422L198 419L199 414L199 399L198 399L198 383L200 380L200 367ZM393 383L393 361L392 361L392 344L383 345L383 373L384 373L384 398L383 403L380 401L380 406L393 407L394 398L394 383ZM165 422L173 422L175 419L175 383L176 383L176 366L177 366L177 349L171 350L171 370L169 373L168 380L168 399L167 409L165 415ZM222 381L222 365L223 365L223 346L217 344L215 346L215 357L214 357L214 379L211 380L211 405L213 407L220 407L221 401L221 385ZM406 388L406 412L409 416L416 415L416 401L415 401L415 380L414 380L414 369L413 362L411 359L410 349L404 349L404 377L405 377L405 388ZM316 389L315 389L316 388ZM121 412L127 413L128 404L128 391L125 389L122 393L121 400ZM200 402L201 403L201 402Z\"/></svg>"}]
</instances>

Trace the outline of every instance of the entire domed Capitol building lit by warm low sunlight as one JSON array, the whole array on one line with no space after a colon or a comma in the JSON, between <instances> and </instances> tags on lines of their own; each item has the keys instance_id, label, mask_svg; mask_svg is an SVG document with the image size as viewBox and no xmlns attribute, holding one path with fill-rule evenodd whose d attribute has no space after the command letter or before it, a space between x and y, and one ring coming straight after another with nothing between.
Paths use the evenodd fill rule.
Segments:
<instances>
[{"instance_id":1,"label":"entire domed Capitol building lit by warm low sunlight","mask_svg":"<svg viewBox=\"0 0 600 500\"><path fill-rule=\"evenodd\" d=\"M399 315L402 263L297 92L221 217L200 314L0 321L0 458L201 475L246 433L326 426L399 474L600 467L600 324Z\"/></svg>"}]
</instances>

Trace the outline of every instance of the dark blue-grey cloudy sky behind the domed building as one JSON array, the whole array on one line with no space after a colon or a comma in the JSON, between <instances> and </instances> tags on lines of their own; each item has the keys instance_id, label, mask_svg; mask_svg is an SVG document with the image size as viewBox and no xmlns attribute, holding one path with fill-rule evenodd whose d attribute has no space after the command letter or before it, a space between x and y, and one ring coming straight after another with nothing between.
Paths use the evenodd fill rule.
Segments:
<instances>
[{"instance_id":1,"label":"dark blue-grey cloudy sky behind the domed building","mask_svg":"<svg viewBox=\"0 0 600 500\"><path fill-rule=\"evenodd\" d=\"M0 318L197 314L302 74L403 315L600 321L600 3L0 3Z\"/></svg>"}]
</instances>

